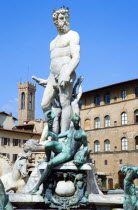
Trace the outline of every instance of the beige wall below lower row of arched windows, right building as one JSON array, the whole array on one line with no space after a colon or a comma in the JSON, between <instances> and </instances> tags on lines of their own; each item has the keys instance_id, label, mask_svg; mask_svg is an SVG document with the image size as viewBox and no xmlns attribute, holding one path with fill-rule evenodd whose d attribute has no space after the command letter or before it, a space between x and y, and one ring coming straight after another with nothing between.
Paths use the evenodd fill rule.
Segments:
<instances>
[{"instance_id":1,"label":"beige wall below lower row of arched windows, right building","mask_svg":"<svg viewBox=\"0 0 138 210\"><path fill-rule=\"evenodd\" d=\"M138 167L138 151L120 151L120 152L108 152L108 153L97 153L91 156L95 160L95 166L99 172L106 174L106 188L109 189L108 180L113 179L113 187L116 183L119 183L120 167L123 165L134 165ZM105 165L107 160L107 165ZM122 163L120 163L122 160ZM138 179L135 181L138 186Z\"/></svg>"}]
</instances>

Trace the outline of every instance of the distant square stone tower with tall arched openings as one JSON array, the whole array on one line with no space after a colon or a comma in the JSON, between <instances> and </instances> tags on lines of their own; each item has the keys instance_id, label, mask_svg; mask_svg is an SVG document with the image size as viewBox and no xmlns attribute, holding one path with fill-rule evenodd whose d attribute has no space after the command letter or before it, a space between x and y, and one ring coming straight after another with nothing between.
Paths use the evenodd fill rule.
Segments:
<instances>
[{"instance_id":1,"label":"distant square stone tower with tall arched openings","mask_svg":"<svg viewBox=\"0 0 138 210\"><path fill-rule=\"evenodd\" d=\"M29 82L18 84L18 124L34 120L36 85Z\"/></svg>"}]
</instances>

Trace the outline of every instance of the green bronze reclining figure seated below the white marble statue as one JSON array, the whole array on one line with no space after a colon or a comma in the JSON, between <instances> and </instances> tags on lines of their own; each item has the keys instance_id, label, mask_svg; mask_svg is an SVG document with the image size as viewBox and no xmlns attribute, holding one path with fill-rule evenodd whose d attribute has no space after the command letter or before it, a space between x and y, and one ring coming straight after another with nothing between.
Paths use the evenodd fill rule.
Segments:
<instances>
[{"instance_id":1,"label":"green bronze reclining figure seated below the white marble statue","mask_svg":"<svg viewBox=\"0 0 138 210\"><path fill-rule=\"evenodd\" d=\"M61 164L68 161L71 161L74 159L74 163L76 165L81 165L86 162L87 156L89 153L88 147L87 147L87 135L85 131L80 127L80 117L77 114L74 114L72 117L73 122L73 128L69 129L65 133L56 134L55 132L51 131L51 124L53 123L53 112L50 110L47 113L48 119L48 127L49 131L47 134L48 136L52 137L51 141L48 141L45 143L45 145L41 146L41 151L45 150L46 156L47 156L47 167L45 168L44 172L42 173L42 176L37 183L37 185L31 190L30 193L36 193L39 190L40 185L44 182L44 180L47 179L49 176L51 170ZM59 142L60 138L65 138L65 142ZM81 146L83 145L83 149L80 150ZM24 147L24 151L27 152L27 148ZM37 146L35 147L35 150L38 151ZM40 146L39 146L40 151ZM50 159L51 152L55 153L55 157ZM79 153L77 153L79 152Z\"/></svg>"}]
</instances>

